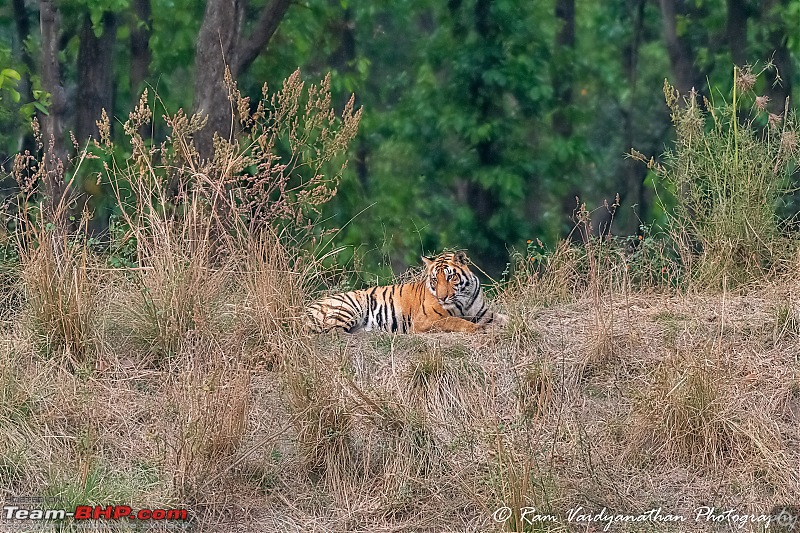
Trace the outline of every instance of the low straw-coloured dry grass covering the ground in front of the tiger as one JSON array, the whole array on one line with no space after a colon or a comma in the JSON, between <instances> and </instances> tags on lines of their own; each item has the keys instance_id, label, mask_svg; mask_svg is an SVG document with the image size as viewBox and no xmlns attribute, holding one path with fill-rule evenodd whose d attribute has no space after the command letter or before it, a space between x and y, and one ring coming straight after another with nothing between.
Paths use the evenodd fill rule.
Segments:
<instances>
[{"instance_id":1,"label":"low straw-coloured dry grass covering the ground in front of the tiger","mask_svg":"<svg viewBox=\"0 0 800 533\"><path fill-rule=\"evenodd\" d=\"M196 323L168 361L107 329L74 367L9 316L6 497L188 506L209 531L577 531L564 517L579 506L759 515L800 493L796 283L609 294L603 331L579 297L527 313L505 301L515 320L495 335L309 338L276 331L299 309L256 305L270 283L257 276L231 274L227 324ZM106 283L106 301L125 297ZM561 520L495 523L503 506Z\"/></svg>"}]
</instances>

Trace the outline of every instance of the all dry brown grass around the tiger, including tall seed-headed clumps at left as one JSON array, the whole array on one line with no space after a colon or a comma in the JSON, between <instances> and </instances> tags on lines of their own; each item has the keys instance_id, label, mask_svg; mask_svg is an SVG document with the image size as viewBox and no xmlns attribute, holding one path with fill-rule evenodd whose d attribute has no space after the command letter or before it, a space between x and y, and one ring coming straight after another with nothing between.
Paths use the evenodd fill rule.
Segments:
<instances>
[{"instance_id":1,"label":"all dry brown grass around the tiger, including tall seed-headed clumps at left","mask_svg":"<svg viewBox=\"0 0 800 533\"><path fill-rule=\"evenodd\" d=\"M766 531L737 517L797 517L800 256L712 291L670 286L691 272L648 239L634 255L565 243L522 258L496 298L502 331L310 336L312 237L258 218L302 218L296 196L254 220L215 186L253 164L284 179L264 156L276 139L218 140L226 161L254 158L221 172L181 136L194 119L152 151L137 120L134 165L105 171L142 178L116 189L134 264L109 267L55 211L2 272L4 501L185 507L198 531ZM732 512L696 519L705 507ZM581 519L653 509L686 520Z\"/></svg>"}]
</instances>

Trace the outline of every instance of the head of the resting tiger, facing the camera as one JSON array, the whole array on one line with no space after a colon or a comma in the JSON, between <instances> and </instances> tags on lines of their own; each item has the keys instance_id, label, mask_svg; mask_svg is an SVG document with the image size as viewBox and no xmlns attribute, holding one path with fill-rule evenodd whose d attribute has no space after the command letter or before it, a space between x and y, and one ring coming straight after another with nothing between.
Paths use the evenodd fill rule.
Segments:
<instances>
[{"instance_id":1,"label":"head of the resting tiger, facing the camera","mask_svg":"<svg viewBox=\"0 0 800 533\"><path fill-rule=\"evenodd\" d=\"M428 290L445 307L458 306L474 300L480 290L478 278L469 269L469 259L463 251L444 252L434 258L424 257Z\"/></svg>"}]
</instances>

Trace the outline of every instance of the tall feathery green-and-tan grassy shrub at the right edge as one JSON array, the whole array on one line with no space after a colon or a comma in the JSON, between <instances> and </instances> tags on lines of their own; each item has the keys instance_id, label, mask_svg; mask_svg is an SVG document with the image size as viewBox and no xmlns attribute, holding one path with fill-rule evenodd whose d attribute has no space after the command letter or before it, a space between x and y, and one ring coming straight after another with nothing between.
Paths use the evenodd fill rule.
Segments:
<instances>
[{"instance_id":1,"label":"tall feathery green-and-tan grassy shrub at the right edge","mask_svg":"<svg viewBox=\"0 0 800 533\"><path fill-rule=\"evenodd\" d=\"M675 194L670 231L684 267L704 287L783 271L797 248L777 215L797 171L797 117L788 101L782 115L767 112L768 98L753 91L759 74L734 68L730 101L700 101L665 82L675 144L663 163L632 152Z\"/></svg>"}]
</instances>

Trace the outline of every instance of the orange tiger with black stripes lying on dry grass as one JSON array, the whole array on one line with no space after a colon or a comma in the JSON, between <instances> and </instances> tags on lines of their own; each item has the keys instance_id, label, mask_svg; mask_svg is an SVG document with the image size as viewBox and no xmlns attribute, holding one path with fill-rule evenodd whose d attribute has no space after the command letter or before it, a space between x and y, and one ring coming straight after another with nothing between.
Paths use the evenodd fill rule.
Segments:
<instances>
[{"instance_id":1,"label":"orange tiger with black stripes lying on dry grass","mask_svg":"<svg viewBox=\"0 0 800 533\"><path fill-rule=\"evenodd\" d=\"M419 281L334 294L307 307L312 332L391 333L485 331L503 327L508 317L489 310L478 277L463 251L422 257Z\"/></svg>"}]
</instances>

